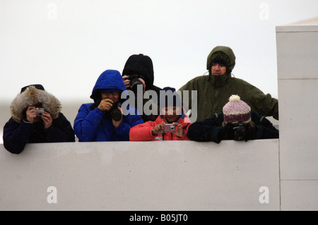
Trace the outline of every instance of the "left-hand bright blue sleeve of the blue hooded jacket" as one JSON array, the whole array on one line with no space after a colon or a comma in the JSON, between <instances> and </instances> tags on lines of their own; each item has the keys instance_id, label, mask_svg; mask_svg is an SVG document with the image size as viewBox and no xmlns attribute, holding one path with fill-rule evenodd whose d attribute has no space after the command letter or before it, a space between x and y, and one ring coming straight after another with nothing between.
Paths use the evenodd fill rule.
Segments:
<instances>
[{"instance_id":1,"label":"left-hand bright blue sleeve of the blue hooded jacket","mask_svg":"<svg viewBox=\"0 0 318 225\"><path fill-rule=\"evenodd\" d=\"M74 120L74 133L79 141L93 141L102 121L103 112L95 108L90 111L89 104L82 104Z\"/></svg>"}]
</instances>

